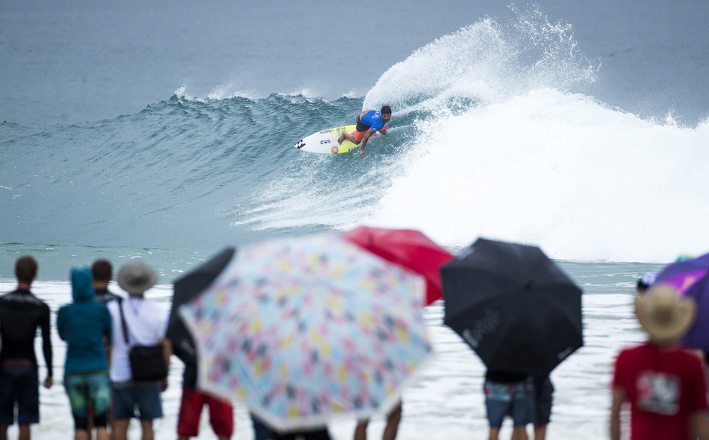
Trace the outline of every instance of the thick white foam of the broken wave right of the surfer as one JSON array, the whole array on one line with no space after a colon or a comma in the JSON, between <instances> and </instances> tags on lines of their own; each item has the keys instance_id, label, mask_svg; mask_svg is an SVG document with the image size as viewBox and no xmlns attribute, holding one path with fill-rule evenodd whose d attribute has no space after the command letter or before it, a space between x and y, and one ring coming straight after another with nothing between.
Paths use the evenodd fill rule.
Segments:
<instances>
[{"instance_id":1,"label":"thick white foam of the broken wave right of the surfer","mask_svg":"<svg viewBox=\"0 0 709 440\"><path fill-rule=\"evenodd\" d=\"M374 224L452 246L539 244L559 259L671 261L709 242L709 121L658 124L538 89L418 129Z\"/></svg>"}]
</instances>

